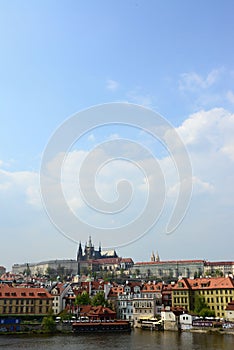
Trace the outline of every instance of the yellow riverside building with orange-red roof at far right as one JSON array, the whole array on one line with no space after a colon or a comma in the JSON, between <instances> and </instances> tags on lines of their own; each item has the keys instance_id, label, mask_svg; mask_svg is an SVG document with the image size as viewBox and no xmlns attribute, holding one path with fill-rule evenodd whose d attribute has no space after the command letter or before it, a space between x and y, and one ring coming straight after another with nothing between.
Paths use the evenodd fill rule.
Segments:
<instances>
[{"instance_id":1,"label":"yellow riverside building with orange-red roof at far right","mask_svg":"<svg viewBox=\"0 0 234 350\"><path fill-rule=\"evenodd\" d=\"M225 317L225 309L234 300L234 282L231 277L183 278L172 291L172 306L194 310L195 298L203 299L216 317Z\"/></svg>"}]
</instances>

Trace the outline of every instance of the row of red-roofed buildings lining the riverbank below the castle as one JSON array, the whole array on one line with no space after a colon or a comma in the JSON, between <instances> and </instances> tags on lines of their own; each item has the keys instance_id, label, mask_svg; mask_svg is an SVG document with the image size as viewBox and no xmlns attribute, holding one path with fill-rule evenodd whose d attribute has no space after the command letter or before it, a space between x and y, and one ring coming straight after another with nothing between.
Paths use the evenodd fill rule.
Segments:
<instances>
[{"instance_id":1,"label":"row of red-roofed buildings lining the riverbank below the castle","mask_svg":"<svg viewBox=\"0 0 234 350\"><path fill-rule=\"evenodd\" d=\"M166 317L167 312L194 314L196 298L202 298L206 307L218 318L234 322L234 281L231 277L207 277L177 282L126 281L124 284L84 281L54 282L44 288L36 283L0 284L0 317L41 317L51 310L55 315L67 310L79 316L81 306L77 295L87 293L92 298L103 293L116 317L139 326L142 321ZM165 314L166 312L166 314Z\"/></svg>"}]
</instances>

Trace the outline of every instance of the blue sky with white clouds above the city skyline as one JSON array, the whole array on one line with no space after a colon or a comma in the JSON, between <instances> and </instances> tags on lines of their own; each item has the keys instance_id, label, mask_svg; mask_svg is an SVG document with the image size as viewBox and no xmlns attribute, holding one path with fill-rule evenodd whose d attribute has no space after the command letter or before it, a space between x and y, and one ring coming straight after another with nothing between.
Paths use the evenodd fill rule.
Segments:
<instances>
[{"instance_id":1,"label":"blue sky with white clouds above the city skyline","mask_svg":"<svg viewBox=\"0 0 234 350\"><path fill-rule=\"evenodd\" d=\"M115 245L120 256L135 262L148 261L152 251L161 260L233 260L233 13L231 0L0 0L0 265L10 270L14 263L73 259L77 242L88 240L79 225L69 223L64 234L52 222L40 172L47 145L65 121L80 116L85 127L80 111L112 102L143 106L170 123L189 154L193 191L181 224L167 234L178 196L171 149L124 123L88 130L66 150L62 181L73 214L94 226L89 234L95 246ZM94 112L90 122L98 120ZM132 143L120 144L121 138ZM95 148L103 142L107 148ZM150 159L138 153L139 145L151 150ZM63 151L47 164L51 174ZM77 174L89 155L83 179L91 200L94 163L97 193L107 203L118 199L120 180L136 188L132 206L119 217L98 216L85 206ZM116 240L108 229L134 221L154 194L145 187L155 177L155 159L166 183L162 215L148 232L130 230ZM130 187L121 192L124 200ZM46 191L63 219L55 189ZM103 225L99 236L95 227Z\"/></svg>"}]
</instances>

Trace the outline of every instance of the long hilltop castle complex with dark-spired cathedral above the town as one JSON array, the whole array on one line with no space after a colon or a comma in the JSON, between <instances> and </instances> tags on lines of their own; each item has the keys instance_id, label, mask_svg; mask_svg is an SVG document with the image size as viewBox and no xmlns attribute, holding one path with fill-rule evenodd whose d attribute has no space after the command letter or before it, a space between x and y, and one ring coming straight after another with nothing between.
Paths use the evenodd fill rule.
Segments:
<instances>
[{"instance_id":1,"label":"long hilltop castle complex with dark-spired cathedral above the town","mask_svg":"<svg viewBox=\"0 0 234 350\"><path fill-rule=\"evenodd\" d=\"M30 273L46 275L55 272L64 275L99 274L155 279L178 279L200 276L234 275L234 262L210 262L206 260L170 260L161 261L159 254L154 253L148 262L134 263L131 258L118 257L115 250L103 251L101 245L95 250L91 237L84 249L79 243L76 259L50 260L39 263L14 264L13 273Z\"/></svg>"}]
</instances>

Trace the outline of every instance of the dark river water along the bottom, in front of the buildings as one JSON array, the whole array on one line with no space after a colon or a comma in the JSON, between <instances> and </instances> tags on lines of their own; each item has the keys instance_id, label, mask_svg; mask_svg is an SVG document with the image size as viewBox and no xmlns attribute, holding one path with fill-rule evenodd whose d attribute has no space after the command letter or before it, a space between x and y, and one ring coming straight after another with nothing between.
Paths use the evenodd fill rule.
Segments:
<instances>
[{"instance_id":1,"label":"dark river water along the bottom, in front of the buildings","mask_svg":"<svg viewBox=\"0 0 234 350\"><path fill-rule=\"evenodd\" d=\"M234 336L133 330L127 334L0 336L0 349L30 350L233 350Z\"/></svg>"}]
</instances>

